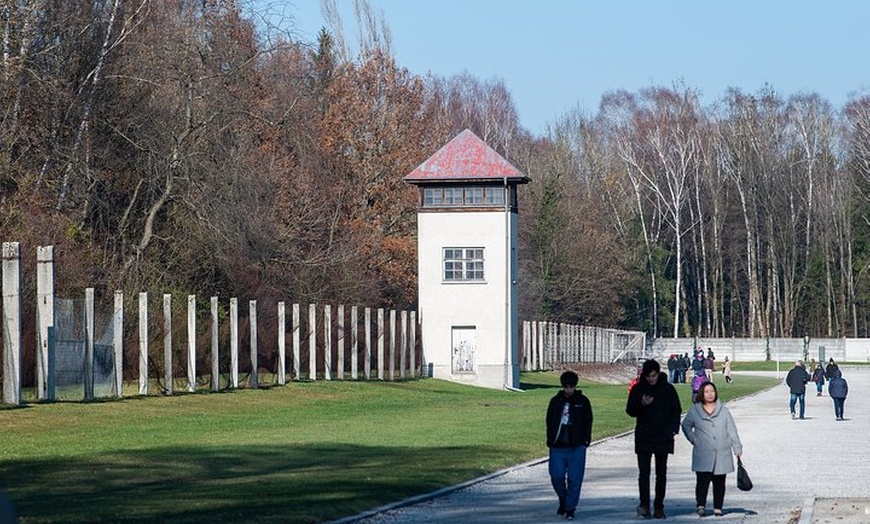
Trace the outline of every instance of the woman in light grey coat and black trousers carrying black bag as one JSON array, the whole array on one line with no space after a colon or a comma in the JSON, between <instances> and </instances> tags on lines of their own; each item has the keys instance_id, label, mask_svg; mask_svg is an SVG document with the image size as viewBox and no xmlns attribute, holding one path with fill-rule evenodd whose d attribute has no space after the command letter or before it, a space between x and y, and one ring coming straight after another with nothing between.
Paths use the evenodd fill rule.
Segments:
<instances>
[{"instance_id":1,"label":"woman in light grey coat and black trousers carrying black bag","mask_svg":"<svg viewBox=\"0 0 870 524\"><path fill-rule=\"evenodd\" d=\"M695 472L695 502L698 515L704 516L707 491L713 483L713 514L722 515L725 502L725 475L734 471L733 453L743 454L743 444L731 412L721 402L712 382L698 390L695 404L681 424L683 434L692 443L692 471Z\"/></svg>"}]
</instances>

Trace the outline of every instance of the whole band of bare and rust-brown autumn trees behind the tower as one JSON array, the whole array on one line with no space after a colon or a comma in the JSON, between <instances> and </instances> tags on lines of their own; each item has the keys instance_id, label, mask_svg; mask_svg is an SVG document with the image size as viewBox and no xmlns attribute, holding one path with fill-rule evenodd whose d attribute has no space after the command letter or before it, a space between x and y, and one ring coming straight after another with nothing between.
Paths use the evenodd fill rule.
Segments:
<instances>
[{"instance_id":1,"label":"whole band of bare and rust-brown autumn trees behind the tower","mask_svg":"<svg viewBox=\"0 0 870 524\"><path fill-rule=\"evenodd\" d=\"M368 4L355 46L324 5L315 42L232 1L0 6L0 231L25 278L53 244L67 296L413 308L402 178L469 128L531 177L524 318L866 336L870 98L653 87L535 137L502 81L414 75Z\"/></svg>"}]
</instances>

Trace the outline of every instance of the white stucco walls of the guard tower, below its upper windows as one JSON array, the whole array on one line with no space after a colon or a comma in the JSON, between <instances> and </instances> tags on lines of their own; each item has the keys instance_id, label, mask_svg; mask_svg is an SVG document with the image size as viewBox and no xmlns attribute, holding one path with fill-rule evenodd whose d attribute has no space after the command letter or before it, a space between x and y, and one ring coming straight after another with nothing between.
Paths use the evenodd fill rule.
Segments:
<instances>
[{"instance_id":1,"label":"white stucco walls of the guard tower, below its upper windows","mask_svg":"<svg viewBox=\"0 0 870 524\"><path fill-rule=\"evenodd\" d=\"M430 369L435 378L491 388L519 387L516 213L507 217L503 210L418 213L417 231L423 369ZM445 282L445 247L483 248L485 281ZM512 275L510 284L507 271ZM455 326L475 328L472 373L453 372Z\"/></svg>"}]
</instances>

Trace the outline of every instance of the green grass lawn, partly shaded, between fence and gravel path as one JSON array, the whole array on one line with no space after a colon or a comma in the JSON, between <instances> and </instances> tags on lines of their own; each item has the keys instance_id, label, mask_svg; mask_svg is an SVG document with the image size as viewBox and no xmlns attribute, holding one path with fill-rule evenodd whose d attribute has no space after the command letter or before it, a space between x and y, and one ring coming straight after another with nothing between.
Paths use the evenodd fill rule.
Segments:
<instances>
[{"instance_id":1,"label":"green grass lawn, partly shaded, between fence and gravel path","mask_svg":"<svg viewBox=\"0 0 870 524\"><path fill-rule=\"evenodd\" d=\"M728 400L775 382L717 385ZM27 404L0 410L0 488L22 524L323 522L545 456L558 375L523 388L317 381ZM580 388L595 439L633 427L625 385Z\"/></svg>"}]
</instances>

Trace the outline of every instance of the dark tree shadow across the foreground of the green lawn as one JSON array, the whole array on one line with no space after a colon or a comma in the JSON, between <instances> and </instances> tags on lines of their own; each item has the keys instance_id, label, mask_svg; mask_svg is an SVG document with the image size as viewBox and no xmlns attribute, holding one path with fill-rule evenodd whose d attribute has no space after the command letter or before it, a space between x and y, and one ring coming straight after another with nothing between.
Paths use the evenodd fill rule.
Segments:
<instances>
[{"instance_id":1,"label":"dark tree shadow across the foreground of the green lawn","mask_svg":"<svg viewBox=\"0 0 870 524\"><path fill-rule=\"evenodd\" d=\"M503 453L487 446L169 447L4 462L0 487L21 524L316 523L474 478L483 473L481 458ZM445 455L475 460L457 468L463 462Z\"/></svg>"}]
</instances>

